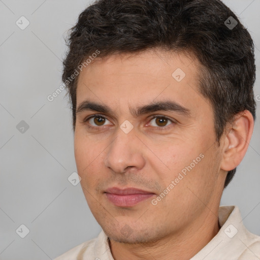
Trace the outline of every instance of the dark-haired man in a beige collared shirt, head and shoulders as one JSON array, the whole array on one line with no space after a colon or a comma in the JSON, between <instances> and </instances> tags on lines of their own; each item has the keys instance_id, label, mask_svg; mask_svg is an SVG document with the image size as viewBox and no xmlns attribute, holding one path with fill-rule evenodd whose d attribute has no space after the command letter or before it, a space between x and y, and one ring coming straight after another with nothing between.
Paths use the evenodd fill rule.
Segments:
<instances>
[{"instance_id":1,"label":"dark-haired man in a beige collared shirt, head and shoulders","mask_svg":"<svg viewBox=\"0 0 260 260\"><path fill-rule=\"evenodd\" d=\"M69 38L75 158L103 231L56 258L260 259L220 199L253 132L253 42L219 0L101 0Z\"/></svg>"}]
</instances>

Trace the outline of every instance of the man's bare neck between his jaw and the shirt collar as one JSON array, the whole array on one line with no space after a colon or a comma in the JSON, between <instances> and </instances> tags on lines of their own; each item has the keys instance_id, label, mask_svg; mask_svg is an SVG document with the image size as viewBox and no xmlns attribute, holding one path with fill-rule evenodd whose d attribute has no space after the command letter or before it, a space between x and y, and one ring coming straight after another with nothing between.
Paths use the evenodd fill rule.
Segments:
<instances>
[{"instance_id":1,"label":"man's bare neck between his jaw and the shirt collar","mask_svg":"<svg viewBox=\"0 0 260 260\"><path fill-rule=\"evenodd\" d=\"M205 208L205 214L177 233L159 241L142 244L123 244L110 240L110 250L115 260L188 260L205 247L218 233L218 209Z\"/></svg>"}]
</instances>

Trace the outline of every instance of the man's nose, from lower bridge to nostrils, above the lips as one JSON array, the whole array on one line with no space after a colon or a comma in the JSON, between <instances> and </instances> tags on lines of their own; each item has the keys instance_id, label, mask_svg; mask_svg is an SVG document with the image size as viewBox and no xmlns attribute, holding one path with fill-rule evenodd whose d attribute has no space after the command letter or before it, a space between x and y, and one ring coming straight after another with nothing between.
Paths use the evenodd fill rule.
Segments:
<instances>
[{"instance_id":1,"label":"man's nose, from lower bridge to nostrils, above the lips","mask_svg":"<svg viewBox=\"0 0 260 260\"><path fill-rule=\"evenodd\" d=\"M105 156L105 166L115 173L124 173L129 168L140 170L145 165L143 144L136 137L134 129L125 134L120 128Z\"/></svg>"}]
</instances>

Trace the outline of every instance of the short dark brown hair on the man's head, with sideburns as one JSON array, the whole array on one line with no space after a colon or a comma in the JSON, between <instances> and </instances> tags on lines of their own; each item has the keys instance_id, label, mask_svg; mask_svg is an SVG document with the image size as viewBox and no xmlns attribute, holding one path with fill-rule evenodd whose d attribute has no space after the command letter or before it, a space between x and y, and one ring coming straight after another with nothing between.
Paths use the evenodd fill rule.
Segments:
<instances>
[{"instance_id":1,"label":"short dark brown hair on the man's head, with sideburns","mask_svg":"<svg viewBox=\"0 0 260 260\"><path fill-rule=\"evenodd\" d=\"M66 43L62 80L70 94L74 131L78 77L71 76L97 50L99 57L156 47L192 53L202 64L200 92L214 109L218 144L238 112L249 110L255 119L253 41L219 0L96 1L79 15ZM235 172L229 171L224 187Z\"/></svg>"}]
</instances>

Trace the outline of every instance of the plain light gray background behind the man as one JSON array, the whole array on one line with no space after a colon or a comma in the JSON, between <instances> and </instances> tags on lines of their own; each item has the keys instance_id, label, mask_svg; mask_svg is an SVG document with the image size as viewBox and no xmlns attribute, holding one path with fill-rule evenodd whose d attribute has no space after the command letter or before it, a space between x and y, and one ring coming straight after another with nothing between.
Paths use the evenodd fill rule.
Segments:
<instances>
[{"instance_id":1,"label":"plain light gray background behind the man","mask_svg":"<svg viewBox=\"0 0 260 260\"><path fill-rule=\"evenodd\" d=\"M221 205L237 205L246 228L260 235L260 0L226 0L255 42L257 120L248 152ZM88 1L0 0L0 259L53 259L101 231L76 172L68 98L63 90L52 102L47 96L61 84L63 37ZM24 30L16 21L25 16ZM23 23L24 24L24 23ZM20 133L24 120L29 128ZM16 230L25 224L29 234Z\"/></svg>"}]
</instances>

